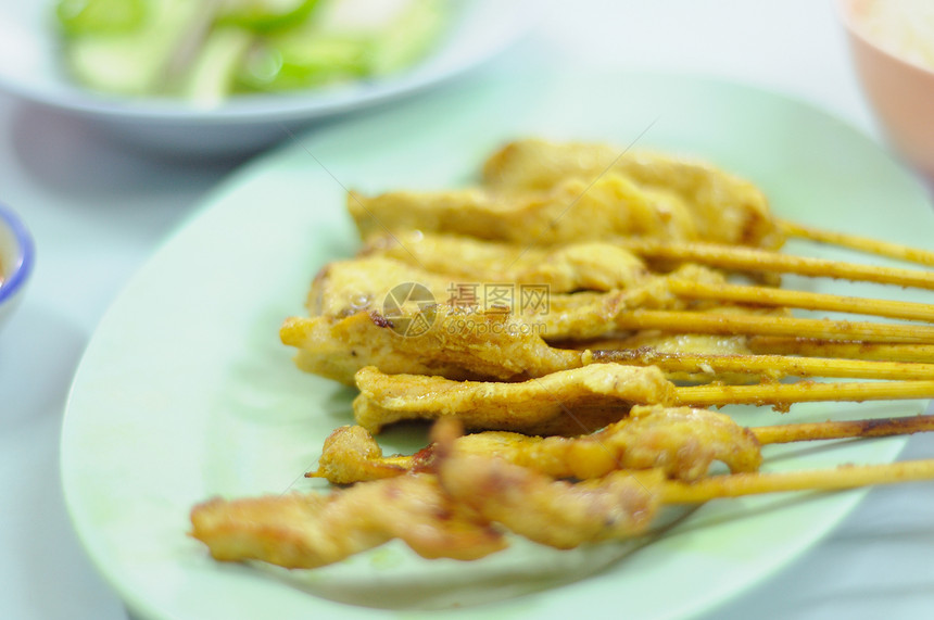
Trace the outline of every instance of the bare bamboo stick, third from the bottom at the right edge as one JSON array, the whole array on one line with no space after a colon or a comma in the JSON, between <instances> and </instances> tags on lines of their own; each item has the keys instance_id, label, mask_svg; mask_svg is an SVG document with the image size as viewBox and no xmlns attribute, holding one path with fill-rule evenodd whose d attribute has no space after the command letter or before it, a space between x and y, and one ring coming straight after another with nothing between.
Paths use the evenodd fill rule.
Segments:
<instances>
[{"instance_id":1,"label":"bare bamboo stick, third from the bottom at the right edge","mask_svg":"<svg viewBox=\"0 0 934 620\"><path fill-rule=\"evenodd\" d=\"M872 383L763 383L759 385L690 385L676 388L678 404L693 407L773 405L832 401L895 401L934 397L934 381Z\"/></svg>"}]
</instances>

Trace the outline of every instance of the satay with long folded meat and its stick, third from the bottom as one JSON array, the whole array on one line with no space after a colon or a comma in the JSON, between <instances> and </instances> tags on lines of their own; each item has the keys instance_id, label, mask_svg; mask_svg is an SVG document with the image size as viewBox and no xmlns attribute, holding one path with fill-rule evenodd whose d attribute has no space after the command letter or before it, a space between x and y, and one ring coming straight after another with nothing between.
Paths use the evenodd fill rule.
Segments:
<instances>
[{"instance_id":1,"label":"satay with long folded meat and its stick, third from the bottom","mask_svg":"<svg viewBox=\"0 0 934 620\"><path fill-rule=\"evenodd\" d=\"M356 374L356 422L370 432L401 420L455 418L465 427L579 435L634 405L722 406L934 397L934 381L799 382L677 387L654 366L592 364L520 382L452 381L421 375Z\"/></svg>"}]
</instances>

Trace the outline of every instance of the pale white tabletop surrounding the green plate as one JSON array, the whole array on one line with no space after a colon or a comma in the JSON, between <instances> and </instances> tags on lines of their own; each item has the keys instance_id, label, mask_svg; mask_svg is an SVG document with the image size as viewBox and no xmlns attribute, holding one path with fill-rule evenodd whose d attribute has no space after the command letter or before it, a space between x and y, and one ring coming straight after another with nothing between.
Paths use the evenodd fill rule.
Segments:
<instances>
[{"instance_id":1,"label":"pale white tabletop surrounding the green plate","mask_svg":"<svg viewBox=\"0 0 934 620\"><path fill-rule=\"evenodd\" d=\"M878 139L825 0L553 1L526 38L477 72L593 66L752 83ZM148 157L0 94L0 201L23 215L38 245L27 296L0 331L0 618L127 617L65 513L67 390L127 279L237 165ZM912 438L903 455L925 456L934 436ZM878 489L818 546L710 617L932 617L932 558L934 485Z\"/></svg>"}]
</instances>

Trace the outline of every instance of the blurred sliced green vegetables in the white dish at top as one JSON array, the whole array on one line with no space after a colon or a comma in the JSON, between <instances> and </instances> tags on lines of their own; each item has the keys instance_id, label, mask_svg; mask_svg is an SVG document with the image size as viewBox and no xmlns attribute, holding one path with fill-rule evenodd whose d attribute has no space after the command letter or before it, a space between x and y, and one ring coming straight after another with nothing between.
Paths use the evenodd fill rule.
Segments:
<instances>
[{"instance_id":1,"label":"blurred sliced green vegetables in the white dish at top","mask_svg":"<svg viewBox=\"0 0 934 620\"><path fill-rule=\"evenodd\" d=\"M379 77L422 58L444 0L60 0L63 63L81 84L201 106Z\"/></svg>"}]
</instances>

